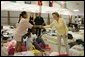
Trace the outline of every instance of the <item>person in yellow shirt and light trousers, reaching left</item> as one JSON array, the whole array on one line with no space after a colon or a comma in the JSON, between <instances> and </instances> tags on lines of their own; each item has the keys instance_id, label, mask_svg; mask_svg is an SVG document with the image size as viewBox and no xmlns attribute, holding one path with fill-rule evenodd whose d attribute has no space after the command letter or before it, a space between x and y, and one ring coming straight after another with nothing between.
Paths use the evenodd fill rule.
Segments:
<instances>
[{"instance_id":1,"label":"person in yellow shirt and light trousers, reaching left","mask_svg":"<svg viewBox=\"0 0 85 57\"><path fill-rule=\"evenodd\" d=\"M57 12L52 13L54 21L47 26L44 26L44 28L53 28L56 30L57 33L57 39L58 39L58 52L60 54L61 50L61 38L64 40L65 47L66 47L66 52L67 54L69 53L68 50L68 43L67 43L67 34L68 34L68 28L67 25L65 24L64 20L59 17L59 14Z\"/></svg>"}]
</instances>

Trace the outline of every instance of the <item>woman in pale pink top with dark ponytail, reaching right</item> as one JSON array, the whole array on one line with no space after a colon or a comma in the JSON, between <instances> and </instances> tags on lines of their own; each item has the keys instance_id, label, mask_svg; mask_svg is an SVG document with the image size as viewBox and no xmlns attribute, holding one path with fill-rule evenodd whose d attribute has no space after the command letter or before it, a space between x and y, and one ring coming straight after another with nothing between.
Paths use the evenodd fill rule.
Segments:
<instances>
[{"instance_id":1,"label":"woman in pale pink top with dark ponytail, reaching right","mask_svg":"<svg viewBox=\"0 0 85 57\"><path fill-rule=\"evenodd\" d=\"M20 14L20 22L18 23L16 29L15 29L15 32L14 32L14 38L15 40L17 41L17 44L16 44L16 52L21 52L21 38L22 36L26 33L26 29L27 28L32 28L33 25L31 25L29 22L28 22L28 15L25 11L23 11L21 14Z\"/></svg>"}]
</instances>

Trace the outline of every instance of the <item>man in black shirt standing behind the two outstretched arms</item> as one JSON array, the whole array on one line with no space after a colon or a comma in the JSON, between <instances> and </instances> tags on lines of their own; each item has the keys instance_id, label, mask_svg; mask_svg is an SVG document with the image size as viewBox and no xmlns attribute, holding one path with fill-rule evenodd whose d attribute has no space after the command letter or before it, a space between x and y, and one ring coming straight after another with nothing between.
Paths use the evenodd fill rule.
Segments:
<instances>
[{"instance_id":1,"label":"man in black shirt standing behind the two outstretched arms","mask_svg":"<svg viewBox=\"0 0 85 57\"><path fill-rule=\"evenodd\" d=\"M37 15L37 17L34 20L35 25L43 25L44 24L44 20L43 18L40 16L40 14ZM41 28L36 27L36 35L41 35Z\"/></svg>"}]
</instances>

